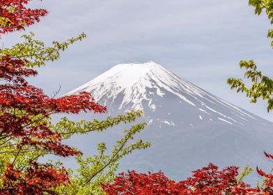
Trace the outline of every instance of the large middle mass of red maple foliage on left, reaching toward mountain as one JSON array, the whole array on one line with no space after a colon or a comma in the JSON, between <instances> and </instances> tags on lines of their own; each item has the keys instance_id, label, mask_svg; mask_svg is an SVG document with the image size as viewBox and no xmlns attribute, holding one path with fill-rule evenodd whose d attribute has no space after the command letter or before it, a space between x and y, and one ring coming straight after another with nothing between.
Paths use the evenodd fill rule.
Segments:
<instances>
[{"instance_id":1,"label":"large middle mass of red maple foliage on left, reaching toward mountain","mask_svg":"<svg viewBox=\"0 0 273 195\"><path fill-rule=\"evenodd\" d=\"M24 64L25 61L13 60L6 56L0 59L0 79L5 81L0 84L0 137L20 139L18 148L26 145L43 148L63 157L79 154L79 151L61 144L58 132L52 131L42 119L59 113L102 113L106 108L95 103L86 92L62 98L49 98L40 88L28 84L24 77L35 76L37 72L25 68ZM17 113L14 113L14 110ZM33 120L33 117L36 119Z\"/></svg>"}]
</instances>

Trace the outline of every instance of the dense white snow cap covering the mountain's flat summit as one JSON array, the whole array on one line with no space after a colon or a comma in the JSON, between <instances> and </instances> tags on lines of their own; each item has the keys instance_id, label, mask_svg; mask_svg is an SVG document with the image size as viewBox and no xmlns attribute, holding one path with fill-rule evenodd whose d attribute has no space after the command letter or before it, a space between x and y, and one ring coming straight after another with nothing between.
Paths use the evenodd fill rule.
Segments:
<instances>
[{"instance_id":1,"label":"dense white snow cap covering the mountain's flat summit","mask_svg":"<svg viewBox=\"0 0 273 195\"><path fill-rule=\"evenodd\" d=\"M156 89L156 94L162 97L161 88L170 93L178 95L185 102L194 105L180 91L187 91L189 84L166 70L162 65L153 61L148 63L123 63L114 66L107 72L80 86L70 93L78 91L91 92L95 100L105 101L116 99L118 94L123 94L124 98L119 109L126 107L130 102L134 102L130 109L143 109L141 102L147 100L147 88ZM194 91L188 91L194 94Z\"/></svg>"}]
</instances>

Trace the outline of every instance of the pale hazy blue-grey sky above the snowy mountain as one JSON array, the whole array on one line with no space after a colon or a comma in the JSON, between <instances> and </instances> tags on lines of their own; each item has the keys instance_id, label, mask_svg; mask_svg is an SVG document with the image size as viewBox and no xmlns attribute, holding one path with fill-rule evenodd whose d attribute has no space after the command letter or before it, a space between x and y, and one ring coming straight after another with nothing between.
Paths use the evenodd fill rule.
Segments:
<instances>
[{"instance_id":1,"label":"pale hazy blue-grey sky above the snowy mountain","mask_svg":"<svg viewBox=\"0 0 273 195\"><path fill-rule=\"evenodd\" d=\"M228 77L242 77L241 59L254 59L273 77L270 22L254 15L248 0L34 0L32 5L49 15L25 32L3 36L1 44L13 45L29 31L48 44L81 32L88 36L31 79L49 95L59 85L61 94L67 93L118 63L155 61L273 121L265 102L251 105L226 84Z\"/></svg>"}]
</instances>

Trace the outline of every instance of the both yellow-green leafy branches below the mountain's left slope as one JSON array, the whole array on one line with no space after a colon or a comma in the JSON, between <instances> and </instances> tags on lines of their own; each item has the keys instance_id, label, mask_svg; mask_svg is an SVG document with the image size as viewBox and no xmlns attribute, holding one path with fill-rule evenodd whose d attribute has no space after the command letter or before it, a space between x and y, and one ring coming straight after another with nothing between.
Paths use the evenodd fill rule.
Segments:
<instances>
[{"instance_id":1,"label":"both yellow-green leafy branches below the mountain's left slope","mask_svg":"<svg viewBox=\"0 0 273 195\"><path fill-rule=\"evenodd\" d=\"M108 127L118 125L121 122L130 123L138 116L141 116L141 111L131 111L130 113L127 113L126 116L118 116L116 118L108 117L106 120L94 120L93 122L81 120L79 123L74 123L67 118L63 118L56 127L62 129L63 134L70 137L72 133L83 134L91 131L101 132ZM116 142L110 155L107 155L106 143L102 142L98 144L98 155L86 157L85 159L82 156L77 156L76 159L79 168L76 171L70 170L72 178L70 185L59 187L59 189L56 189L56 192L59 194L104 194L102 192L101 183L114 181L120 159L125 155L129 155L134 150L150 147L149 142L143 142L141 139L133 143L130 141L134 139L134 135L141 132L145 126L146 123L141 123L133 125L130 130L125 130L124 137Z\"/></svg>"}]
</instances>

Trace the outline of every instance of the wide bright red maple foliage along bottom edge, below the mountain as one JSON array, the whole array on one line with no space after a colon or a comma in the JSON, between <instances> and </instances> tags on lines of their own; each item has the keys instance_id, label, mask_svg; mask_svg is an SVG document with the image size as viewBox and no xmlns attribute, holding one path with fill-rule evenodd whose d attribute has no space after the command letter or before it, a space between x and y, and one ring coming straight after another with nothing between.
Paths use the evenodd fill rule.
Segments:
<instances>
[{"instance_id":1,"label":"wide bright red maple foliage along bottom edge, below the mountain","mask_svg":"<svg viewBox=\"0 0 273 195\"><path fill-rule=\"evenodd\" d=\"M270 194L265 189L253 189L244 182L237 182L238 167L228 166L219 170L214 164L193 171L193 176L175 182L164 173L120 173L114 183L104 185L104 192L109 195L132 194Z\"/></svg>"}]
</instances>

